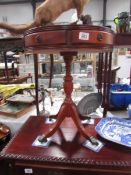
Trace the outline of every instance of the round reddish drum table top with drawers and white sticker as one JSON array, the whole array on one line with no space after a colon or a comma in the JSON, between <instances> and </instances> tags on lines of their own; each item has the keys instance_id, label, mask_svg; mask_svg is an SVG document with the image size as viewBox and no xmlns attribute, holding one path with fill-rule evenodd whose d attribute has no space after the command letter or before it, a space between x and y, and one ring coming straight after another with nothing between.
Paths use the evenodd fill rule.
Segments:
<instances>
[{"instance_id":1,"label":"round reddish drum table top with drawers and white sticker","mask_svg":"<svg viewBox=\"0 0 131 175\"><path fill-rule=\"evenodd\" d=\"M51 25L24 34L25 51L33 53L111 51L113 40L111 29L89 25Z\"/></svg>"}]
</instances>

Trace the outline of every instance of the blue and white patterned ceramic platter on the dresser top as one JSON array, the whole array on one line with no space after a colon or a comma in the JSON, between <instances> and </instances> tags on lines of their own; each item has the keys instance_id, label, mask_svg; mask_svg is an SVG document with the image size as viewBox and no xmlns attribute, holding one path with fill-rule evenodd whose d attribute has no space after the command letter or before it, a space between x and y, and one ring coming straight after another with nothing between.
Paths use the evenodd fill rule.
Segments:
<instances>
[{"instance_id":1,"label":"blue and white patterned ceramic platter on the dresser top","mask_svg":"<svg viewBox=\"0 0 131 175\"><path fill-rule=\"evenodd\" d=\"M107 117L95 129L101 137L131 148L131 120Z\"/></svg>"}]
</instances>

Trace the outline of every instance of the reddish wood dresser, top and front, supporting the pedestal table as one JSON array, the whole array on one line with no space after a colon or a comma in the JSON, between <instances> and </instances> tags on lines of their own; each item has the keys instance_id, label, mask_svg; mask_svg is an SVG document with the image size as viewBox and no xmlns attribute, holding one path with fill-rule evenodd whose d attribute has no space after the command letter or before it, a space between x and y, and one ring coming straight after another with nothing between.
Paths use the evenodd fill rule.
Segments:
<instances>
[{"instance_id":1,"label":"reddish wood dresser, top and front, supporting the pedestal table","mask_svg":"<svg viewBox=\"0 0 131 175\"><path fill-rule=\"evenodd\" d=\"M85 130L101 140L95 125ZM51 126L44 124L43 117L30 117L1 152L10 163L11 175L24 175L25 169L32 169L33 175L131 175L131 149L103 139L105 146L99 153L84 148L85 139L70 118L62 122L48 148L33 147L36 137Z\"/></svg>"}]
</instances>

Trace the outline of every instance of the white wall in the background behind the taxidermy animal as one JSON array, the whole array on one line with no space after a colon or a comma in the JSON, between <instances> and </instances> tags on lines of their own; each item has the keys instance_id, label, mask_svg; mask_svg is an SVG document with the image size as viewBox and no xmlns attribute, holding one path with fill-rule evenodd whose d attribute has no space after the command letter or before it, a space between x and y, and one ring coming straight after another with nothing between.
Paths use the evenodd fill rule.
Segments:
<instances>
[{"instance_id":1,"label":"white wall in the background behind the taxidermy animal","mask_svg":"<svg viewBox=\"0 0 131 175\"><path fill-rule=\"evenodd\" d=\"M107 25L113 25L113 19L122 11L130 10L130 0L107 0ZM71 22L75 10L63 13L56 22ZM90 14L94 24L99 25L103 18L103 0L90 0L85 6L83 14ZM7 22L23 24L33 19L33 10L30 3L0 5L0 21L7 18Z\"/></svg>"}]
</instances>

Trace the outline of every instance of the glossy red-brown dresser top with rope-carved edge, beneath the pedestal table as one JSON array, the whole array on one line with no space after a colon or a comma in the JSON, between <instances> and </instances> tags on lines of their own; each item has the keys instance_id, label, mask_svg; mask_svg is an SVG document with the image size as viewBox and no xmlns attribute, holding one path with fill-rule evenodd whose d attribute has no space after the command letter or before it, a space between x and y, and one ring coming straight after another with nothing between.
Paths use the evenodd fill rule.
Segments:
<instances>
[{"instance_id":1,"label":"glossy red-brown dresser top with rope-carved edge, beneath the pedestal table","mask_svg":"<svg viewBox=\"0 0 131 175\"><path fill-rule=\"evenodd\" d=\"M95 125L98 121L95 120ZM44 123L43 117L32 116L1 152L1 156L7 160L38 161L50 165L119 167L131 171L131 149L103 140L95 132L95 125L87 126L86 131L104 141L105 145L98 153L82 146L85 138L79 135L70 118L63 121L48 148L34 147L32 143L36 137L46 132L49 125Z\"/></svg>"}]
</instances>

